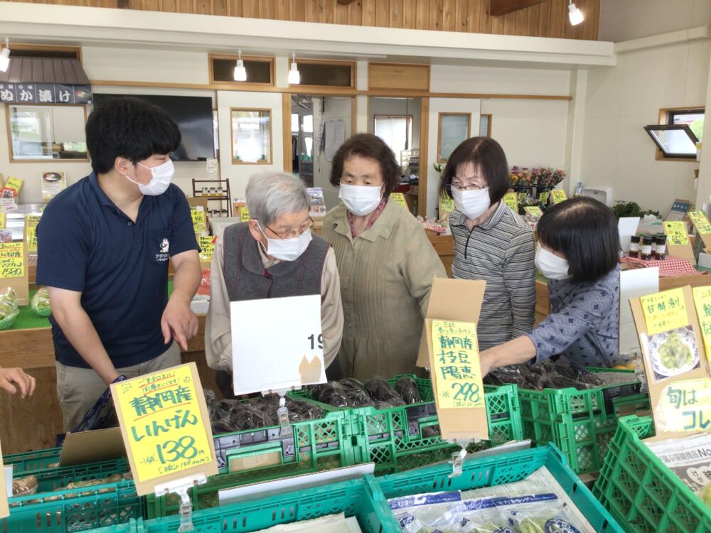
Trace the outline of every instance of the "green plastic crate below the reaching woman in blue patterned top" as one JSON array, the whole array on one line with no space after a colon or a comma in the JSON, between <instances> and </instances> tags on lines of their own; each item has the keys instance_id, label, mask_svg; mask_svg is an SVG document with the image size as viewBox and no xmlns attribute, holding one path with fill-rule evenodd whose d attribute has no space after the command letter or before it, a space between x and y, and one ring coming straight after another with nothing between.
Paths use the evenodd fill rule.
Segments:
<instances>
[{"instance_id":1,"label":"green plastic crate below the reaching woman in blue patterned top","mask_svg":"<svg viewBox=\"0 0 711 533\"><path fill-rule=\"evenodd\" d=\"M589 369L629 375L617 384L593 389L518 389L523 437L543 446L555 443L570 468L579 474L602 468L607 447L621 414L649 409L647 394L639 394L634 371Z\"/></svg>"}]
</instances>

